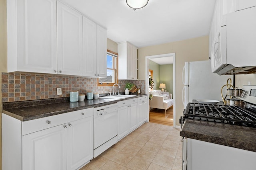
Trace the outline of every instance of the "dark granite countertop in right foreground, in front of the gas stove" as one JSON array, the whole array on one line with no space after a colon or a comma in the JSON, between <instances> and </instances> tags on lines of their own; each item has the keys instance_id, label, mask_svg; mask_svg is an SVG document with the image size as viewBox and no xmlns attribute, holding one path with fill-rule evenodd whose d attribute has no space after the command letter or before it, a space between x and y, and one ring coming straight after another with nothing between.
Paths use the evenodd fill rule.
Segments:
<instances>
[{"instance_id":1,"label":"dark granite countertop in right foreground, in front of the gas stove","mask_svg":"<svg viewBox=\"0 0 256 170\"><path fill-rule=\"evenodd\" d=\"M256 152L256 128L186 119L180 136Z\"/></svg>"}]
</instances>

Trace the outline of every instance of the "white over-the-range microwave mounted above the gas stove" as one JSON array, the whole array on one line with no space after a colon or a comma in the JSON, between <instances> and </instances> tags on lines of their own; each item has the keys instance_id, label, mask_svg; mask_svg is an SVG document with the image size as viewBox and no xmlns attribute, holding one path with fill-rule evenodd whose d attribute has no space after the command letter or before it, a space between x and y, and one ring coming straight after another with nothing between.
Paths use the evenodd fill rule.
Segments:
<instances>
[{"instance_id":1,"label":"white over-the-range microwave mounted above the gas stove","mask_svg":"<svg viewBox=\"0 0 256 170\"><path fill-rule=\"evenodd\" d=\"M212 72L256 73L256 7L226 15L226 25L212 44Z\"/></svg>"}]
</instances>

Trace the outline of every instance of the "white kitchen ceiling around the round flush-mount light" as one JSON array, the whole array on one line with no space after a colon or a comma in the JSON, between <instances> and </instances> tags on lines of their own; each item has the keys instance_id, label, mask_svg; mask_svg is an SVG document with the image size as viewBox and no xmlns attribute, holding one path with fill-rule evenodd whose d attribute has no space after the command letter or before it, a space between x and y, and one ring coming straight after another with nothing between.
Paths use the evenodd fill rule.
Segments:
<instances>
[{"instance_id":1,"label":"white kitchen ceiling around the round flush-mount light","mask_svg":"<svg viewBox=\"0 0 256 170\"><path fill-rule=\"evenodd\" d=\"M107 29L116 43L146 47L208 35L216 0L149 0L138 10L126 0L60 0Z\"/></svg>"}]
</instances>

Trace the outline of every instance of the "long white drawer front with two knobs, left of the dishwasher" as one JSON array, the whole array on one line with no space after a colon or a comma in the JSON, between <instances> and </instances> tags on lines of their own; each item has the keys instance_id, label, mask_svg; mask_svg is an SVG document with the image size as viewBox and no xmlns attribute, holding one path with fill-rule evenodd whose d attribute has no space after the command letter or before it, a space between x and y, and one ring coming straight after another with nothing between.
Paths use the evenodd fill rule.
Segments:
<instances>
[{"instance_id":1,"label":"long white drawer front with two knobs, left of the dishwasher","mask_svg":"<svg viewBox=\"0 0 256 170\"><path fill-rule=\"evenodd\" d=\"M40 119L34 119L30 121L22 121L22 135L41 131L43 129L47 129L90 116L93 116L93 107L88 109L71 111L68 113L62 113L59 115L42 117Z\"/></svg>"}]
</instances>

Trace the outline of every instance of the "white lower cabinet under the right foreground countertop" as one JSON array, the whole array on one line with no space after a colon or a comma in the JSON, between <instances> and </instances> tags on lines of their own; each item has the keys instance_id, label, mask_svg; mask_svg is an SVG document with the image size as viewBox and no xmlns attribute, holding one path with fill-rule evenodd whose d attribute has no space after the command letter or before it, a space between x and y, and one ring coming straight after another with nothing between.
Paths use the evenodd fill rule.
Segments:
<instances>
[{"instance_id":1,"label":"white lower cabinet under the right foreground countertop","mask_svg":"<svg viewBox=\"0 0 256 170\"><path fill-rule=\"evenodd\" d=\"M184 141L184 170L255 170L256 152L190 138Z\"/></svg>"}]
</instances>

